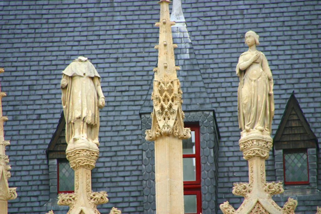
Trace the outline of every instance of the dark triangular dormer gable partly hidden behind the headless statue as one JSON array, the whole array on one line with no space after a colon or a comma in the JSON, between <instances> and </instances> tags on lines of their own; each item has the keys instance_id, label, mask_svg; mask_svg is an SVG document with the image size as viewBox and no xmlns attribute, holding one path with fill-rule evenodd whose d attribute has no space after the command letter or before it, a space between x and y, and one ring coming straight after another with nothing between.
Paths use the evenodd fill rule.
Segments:
<instances>
[{"instance_id":1,"label":"dark triangular dormer gable partly hidden behind the headless statue","mask_svg":"<svg viewBox=\"0 0 321 214\"><path fill-rule=\"evenodd\" d=\"M56 132L53 134L51 141L46 150L48 158L66 158L67 143L65 139L65 116L64 112L61 112L61 116L56 128Z\"/></svg>"}]
</instances>

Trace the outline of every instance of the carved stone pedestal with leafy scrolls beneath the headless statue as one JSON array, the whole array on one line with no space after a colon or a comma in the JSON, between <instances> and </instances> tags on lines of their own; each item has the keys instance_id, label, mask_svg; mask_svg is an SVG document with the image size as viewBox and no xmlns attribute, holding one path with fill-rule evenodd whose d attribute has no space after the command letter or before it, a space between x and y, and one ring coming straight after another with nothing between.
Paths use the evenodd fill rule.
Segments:
<instances>
[{"instance_id":1,"label":"carved stone pedestal with leafy scrolls beneath the headless statue","mask_svg":"<svg viewBox=\"0 0 321 214\"><path fill-rule=\"evenodd\" d=\"M58 205L69 206L68 214L100 214L97 205L107 203L107 193L91 192L91 170L95 167L99 149L93 142L77 140L69 143L66 156L75 171L74 193L59 194Z\"/></svg>"}]
</instances>

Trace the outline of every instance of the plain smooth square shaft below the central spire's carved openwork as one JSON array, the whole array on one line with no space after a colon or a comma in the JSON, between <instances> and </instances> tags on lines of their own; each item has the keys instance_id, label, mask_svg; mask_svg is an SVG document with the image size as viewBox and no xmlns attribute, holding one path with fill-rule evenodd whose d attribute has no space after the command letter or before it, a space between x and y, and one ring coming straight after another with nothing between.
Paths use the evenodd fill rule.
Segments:
<instances>
[{"instance_id":1,"label":"plain smooth square shaft below the central spire's carved openwork","mask_svg":"<svg viewBox=\"0 0 321 214\"><path fill-rule=\"evenodd\" d=\"M182 140L163 136L155 140L156 210L184 213Z\"/></svg>"}]
</instances>

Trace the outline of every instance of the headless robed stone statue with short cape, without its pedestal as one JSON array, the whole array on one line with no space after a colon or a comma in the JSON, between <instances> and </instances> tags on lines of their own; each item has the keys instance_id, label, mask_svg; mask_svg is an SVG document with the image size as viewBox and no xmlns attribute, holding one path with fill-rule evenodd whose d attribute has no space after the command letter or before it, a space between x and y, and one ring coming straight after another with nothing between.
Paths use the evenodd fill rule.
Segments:
<instances>
[{"instance_id":1,"label":"headless robed stone statue with short cape, without its pedestal","mask_svg":"<svg viewBox=\"0 0 321 214\"><path fill-rule=\"evenodd\" d=\"M99 109L105 106L100 76L89 60L79 56L62 72L60 87L66 120L66 142L87 140L99 145Z\"/></svg>"}]
</instances>

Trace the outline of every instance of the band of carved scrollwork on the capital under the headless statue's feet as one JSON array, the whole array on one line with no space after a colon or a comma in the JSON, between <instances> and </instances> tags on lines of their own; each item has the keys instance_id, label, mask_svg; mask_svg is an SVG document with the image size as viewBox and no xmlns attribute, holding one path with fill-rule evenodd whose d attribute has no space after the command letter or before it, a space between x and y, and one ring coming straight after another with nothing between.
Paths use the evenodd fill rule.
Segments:
<instances>
[{"instance_id":1,"label":"band of carved scrollwork on the capital under the headless statue's feet","mask_svg":"<svg viewBox=\"0 0 321 214\"><path fill-rule=\"evenodd\" d=\"M74 170L78 169L79 167L91 170L95 168L96 161L99 157L99 151L79 149L66 152L66 157L69 160L70 167Z\"/></svg>"}]
</instances>

